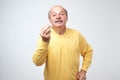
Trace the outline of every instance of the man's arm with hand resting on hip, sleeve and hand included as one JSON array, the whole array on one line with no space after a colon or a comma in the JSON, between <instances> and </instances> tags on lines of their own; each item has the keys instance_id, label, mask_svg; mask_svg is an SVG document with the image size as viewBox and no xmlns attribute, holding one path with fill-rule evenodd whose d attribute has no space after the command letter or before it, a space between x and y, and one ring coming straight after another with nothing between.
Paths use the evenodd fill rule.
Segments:
<instances>
[{"instance_id":1,"label":"man's arm with hand resting on hip, sleeve and hand included","mask_svg":"<svg viewBox=\"0 0 120 80\"><path fill-rule=\"evenodd\" d=\"M77 74L77 79L86 80L86 72L92 61L93 50L82 35L80 35L80 53L83 57L83 63L81 70Z\"/></svg>"}]
</instances>

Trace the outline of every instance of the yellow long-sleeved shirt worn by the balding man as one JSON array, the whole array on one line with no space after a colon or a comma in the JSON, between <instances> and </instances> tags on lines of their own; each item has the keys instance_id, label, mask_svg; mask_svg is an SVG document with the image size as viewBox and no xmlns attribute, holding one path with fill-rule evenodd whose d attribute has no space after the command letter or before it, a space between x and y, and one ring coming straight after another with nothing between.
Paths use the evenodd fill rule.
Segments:
<instances>
[{"instance_id":1,"label":"yellow long-sleeved shirt worn by the balding man","mask_svg":"<svg viewBox=\"0 0 120 80\"><path fill-rule=\"evenodd\" d=\"M63 35L53 29L49 43L38 39L33 62L40 66L45 62L45 80L76 80L80 55L83 56L82 69L87 70L92 60L92 48L77 31L67 28Z\"/></svg>"}]
</instances>

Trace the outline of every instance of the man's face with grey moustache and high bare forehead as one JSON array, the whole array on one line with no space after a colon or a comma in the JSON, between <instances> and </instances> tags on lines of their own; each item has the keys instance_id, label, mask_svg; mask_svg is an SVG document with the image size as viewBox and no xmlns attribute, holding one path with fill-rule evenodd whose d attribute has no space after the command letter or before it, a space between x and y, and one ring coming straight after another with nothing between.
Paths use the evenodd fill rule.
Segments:
<instances>
[{"instance_id":1,"label":"man's face with grey moustache and high bare forehead","mask_svg":"<svg viewBox=\"0 0 120 80\"><path fill-rule=\"evenodd\" d=\"M67 14L62 7L56 6L50 10L49 20L55 27L65 27L67 18Z\"/></svg>"}]
</instances>

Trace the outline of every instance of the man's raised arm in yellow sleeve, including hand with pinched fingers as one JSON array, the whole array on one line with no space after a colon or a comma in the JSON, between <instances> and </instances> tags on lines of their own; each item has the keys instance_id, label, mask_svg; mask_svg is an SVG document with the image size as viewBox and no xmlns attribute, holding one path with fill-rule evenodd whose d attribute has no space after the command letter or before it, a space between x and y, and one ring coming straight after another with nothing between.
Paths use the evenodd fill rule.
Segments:
<instances>
[{"instance_id":1,"label":"man's raised arm in yellow sleeve, including hand with pinched fingers","mask_svg":"<svg viewBox=\"0 0 120 80\"><path fill-rule=\"evenodd\" d=\"M42 65L48 54L48 44L50 39L50 29L49 25L43 27L40 32L40 38L38 39L37 48L33 54L33 62L37 66Z\"/></svg>"}]
</instances>

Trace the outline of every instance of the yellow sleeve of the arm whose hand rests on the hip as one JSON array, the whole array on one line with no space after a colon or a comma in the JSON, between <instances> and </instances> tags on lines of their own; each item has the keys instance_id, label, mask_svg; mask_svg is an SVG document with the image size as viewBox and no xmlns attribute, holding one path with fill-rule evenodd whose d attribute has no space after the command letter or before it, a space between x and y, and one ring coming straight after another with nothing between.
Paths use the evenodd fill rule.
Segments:
<instances>
[{"instance_id":1,"label":"yellow sleeve of the arm whose hand rests on the hip","mask_svg":"<svg viewBox=\"0 0 120 80\"><path fill-rule=\"evenodd\" d=\"M80 48L81 55L83 57L82 70L87 71L92 61L93 50L83 36L80 38Z\"/></svg>"}]
</instances>

